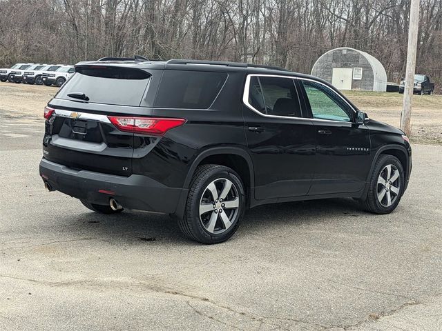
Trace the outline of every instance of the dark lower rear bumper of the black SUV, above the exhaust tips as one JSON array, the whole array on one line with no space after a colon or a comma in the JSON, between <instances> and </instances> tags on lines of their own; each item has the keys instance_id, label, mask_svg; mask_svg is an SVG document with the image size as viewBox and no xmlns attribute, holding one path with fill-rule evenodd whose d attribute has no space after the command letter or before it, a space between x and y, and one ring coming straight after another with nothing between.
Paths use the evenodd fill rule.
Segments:
<instances>
[{"instance_id":1,"label":"dark lower rear bumper of the black SUV, above the exhaust tips","mask_svg":"<svg viewBox=\"0 0 442 331\"><path fill-rule=\"evenodd\" d=\"M43 181L49 183L52 190L101 205L108 205L109 199L113 198L127 209L181 214L177 208L183 205L188 191L183 188L169 188L139 174L122 177L73 170L46 159L41 159L39 171ZM101 193L99 190L108 192Z\"/></svg>"}]
</instances>

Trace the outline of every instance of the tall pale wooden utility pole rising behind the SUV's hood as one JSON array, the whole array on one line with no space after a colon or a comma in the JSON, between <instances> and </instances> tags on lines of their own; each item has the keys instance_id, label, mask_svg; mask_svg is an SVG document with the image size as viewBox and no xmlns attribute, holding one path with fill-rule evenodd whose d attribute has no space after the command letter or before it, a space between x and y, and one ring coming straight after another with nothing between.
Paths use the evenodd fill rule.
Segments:
<instances>
[{"instance_id":1,"label":"tall pale wooden utility pole rising behind the SUV's hood","mask_svg":"<svg viewBox=\"0 0 442 331\"><path fill-rule=\"evenodd\" d=\"M401 114L401 130L410 136L412 132L412 97L414 86L414 70L416 68L417 30L419 26L419 0L411 0L410 26L408 28L407 70L405 73L405 90L403 91L403 109Z\"/></svg>"}]
</instances>

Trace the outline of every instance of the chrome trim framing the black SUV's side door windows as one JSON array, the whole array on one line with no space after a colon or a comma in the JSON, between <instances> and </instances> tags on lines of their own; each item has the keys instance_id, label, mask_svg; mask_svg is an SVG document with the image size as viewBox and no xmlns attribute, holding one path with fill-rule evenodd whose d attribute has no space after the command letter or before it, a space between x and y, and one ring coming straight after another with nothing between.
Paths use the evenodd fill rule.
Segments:
<instances>
[{"instance_id":1,"label":"chrome trim framing the black SUV's side door windows","mask_svg":"<svg viewBox=\"0 0 442 331\"><path fill-rule=\"evenodd\" d=\"M294 77L294 76L285 76L280 74L248 74L246 78L246 83L244 86L244 93L242 94L242 102L244 105L247 106L247 108L250 108L250 110L253 110L253 112L256 112L257 114L260 114L262 117L272 118L272 119L301 119L301 120L307 120L307 121L321 121L321 122L333 122L333 123L353 123L352 121L336 121L334 119L309 119L307 117L289 117L289 116L278 116L278 115L269 115L269 114L263 114L249 103L249 92L250 92L250 80L251 77L276 77L276 78L288 78L288 79L298 79L300 81L313 81L314 83L318 83L322 86L325 86L325 88L328 88L330 91L332 91L336 96L340 97L351 110L353 110L354 114L356 114L356 110L348 103L347 100L345 100L340 94L336 93L334 90L329 88L329 86L325 85L325 83L321 83L320 81L316 81L315 79L309 79L309 78L303 78L303 77Z\"/></svg>"}]
</instances>

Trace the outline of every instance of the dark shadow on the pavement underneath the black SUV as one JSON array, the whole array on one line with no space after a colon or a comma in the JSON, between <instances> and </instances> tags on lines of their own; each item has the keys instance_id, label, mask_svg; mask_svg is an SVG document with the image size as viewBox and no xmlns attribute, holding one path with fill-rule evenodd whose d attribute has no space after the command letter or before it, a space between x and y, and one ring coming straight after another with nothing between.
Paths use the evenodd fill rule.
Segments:
<instances>
[{"instance_id":1,"label":"dark shadow on the pavement underneath the black SUV","mask_svg":"<svg viewBox=\"0 0 442 331\"><path fill-rule=\"evenodd\" d=\"M260 205L248 210L239 232L243 235L265 235L265 229L280 225L293 227L307 223L320 223L323 219L366 214L353 199L324 199ZM182 234L176 217L153 212L128 211L121 214L104 215L84 210L80 214L64 219L70 225L64 230L84 232L108 243L131 243L147 245L158 241L179 245L200 245ZM263 230L264 229L264 230ZM233 236L233 239L236 236Z\"/></svg>"}]
</instances>

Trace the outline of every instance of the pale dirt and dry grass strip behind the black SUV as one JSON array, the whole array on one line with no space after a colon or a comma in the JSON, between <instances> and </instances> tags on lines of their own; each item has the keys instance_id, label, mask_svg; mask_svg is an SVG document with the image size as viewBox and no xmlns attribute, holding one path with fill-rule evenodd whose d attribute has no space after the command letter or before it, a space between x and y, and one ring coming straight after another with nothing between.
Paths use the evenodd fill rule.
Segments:
<instances>
[{"instance_id":1,"label":"pale dirt and dry grass strip behind the black SUV","mask_svg":"<svg viewBox=\"0 0 442 331\"><path fill-rule=\"evenodd\" d=\"M43 120L43 108L57 93L57 88L47 86L0 83L0 111L11 116L23 114ZM399 126L403 94L380 92L345 92L345 95L369 117L392 126ZM413 143L442 145L442 95L415 95L412 109Z\"/></svg>"}]
</instances>

